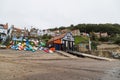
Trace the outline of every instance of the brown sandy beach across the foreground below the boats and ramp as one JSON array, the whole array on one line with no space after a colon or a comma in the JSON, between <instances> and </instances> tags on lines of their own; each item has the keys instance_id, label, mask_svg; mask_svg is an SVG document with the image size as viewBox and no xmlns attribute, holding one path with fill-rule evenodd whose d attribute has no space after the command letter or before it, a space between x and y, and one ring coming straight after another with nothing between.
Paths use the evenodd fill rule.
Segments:
<instances>
[{"instance_id":1,"label":"brown sandy beach across the foreground below the boats and ramp","mask_svg":"<svg viewBox=\"0 0 120 80\"><path fill-rule=\"evenodd\" d=\"M0 80L120 80L120 61L0 49Z\"/></svg>"}]
</instances>

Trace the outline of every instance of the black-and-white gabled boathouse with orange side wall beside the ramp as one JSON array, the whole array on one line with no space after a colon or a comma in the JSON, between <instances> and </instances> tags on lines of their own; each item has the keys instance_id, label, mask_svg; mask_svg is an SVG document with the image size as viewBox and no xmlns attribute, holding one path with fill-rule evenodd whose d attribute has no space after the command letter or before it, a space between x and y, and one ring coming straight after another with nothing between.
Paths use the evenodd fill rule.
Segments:
<instances>
[{"instance_id":1,"label":"black-and-white gabled boathouse with orange side wall beside the ramp","mask_svg":"<svg viewBox=\"0 0 120 80\"><path fill-rule=\"evenodd\" d=\"M54 47L55 50L73 50L74 38L71 32L67 32L50 39L48 45L49 47Z\"/></svg>"}]
</instances>

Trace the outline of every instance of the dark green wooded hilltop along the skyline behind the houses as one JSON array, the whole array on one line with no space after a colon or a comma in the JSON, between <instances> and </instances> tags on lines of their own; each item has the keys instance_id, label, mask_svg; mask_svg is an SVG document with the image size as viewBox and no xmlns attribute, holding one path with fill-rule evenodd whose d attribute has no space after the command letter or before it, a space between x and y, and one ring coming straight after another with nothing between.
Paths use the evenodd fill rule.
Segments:
<instances>
[{"instance_id":1,"label":"dark green wooded hilltop along the skyline behind the houses","mask_svg":"<svg viewBox=\"0 0 120 80\"><path fill-rule=\"evenodd\" d=\"M119 24L78 24L78 25L70 25L69 27L59 27L53 28L51 30L58 30L58 29L79 29L80 32L107 32L109 35L112 34L120 34L120 25Z\"/></svg>"}]
</instances>

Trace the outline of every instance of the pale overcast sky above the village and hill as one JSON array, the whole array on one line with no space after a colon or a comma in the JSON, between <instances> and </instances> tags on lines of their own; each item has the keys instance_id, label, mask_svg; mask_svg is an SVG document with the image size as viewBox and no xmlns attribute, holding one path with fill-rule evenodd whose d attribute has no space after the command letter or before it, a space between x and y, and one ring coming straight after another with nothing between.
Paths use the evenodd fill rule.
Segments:
<instances>
[{"instance_id":1,"label":"pale overcast sky above the village and hill","mask_svg":"<svg viewBox=\"0 0 120 80\"><path fill-rule=\"evenodd\" d=\"M19 28L120 24L120 0L0 0L0 3L0 24Z\"/></svg>"}]
</instances>

